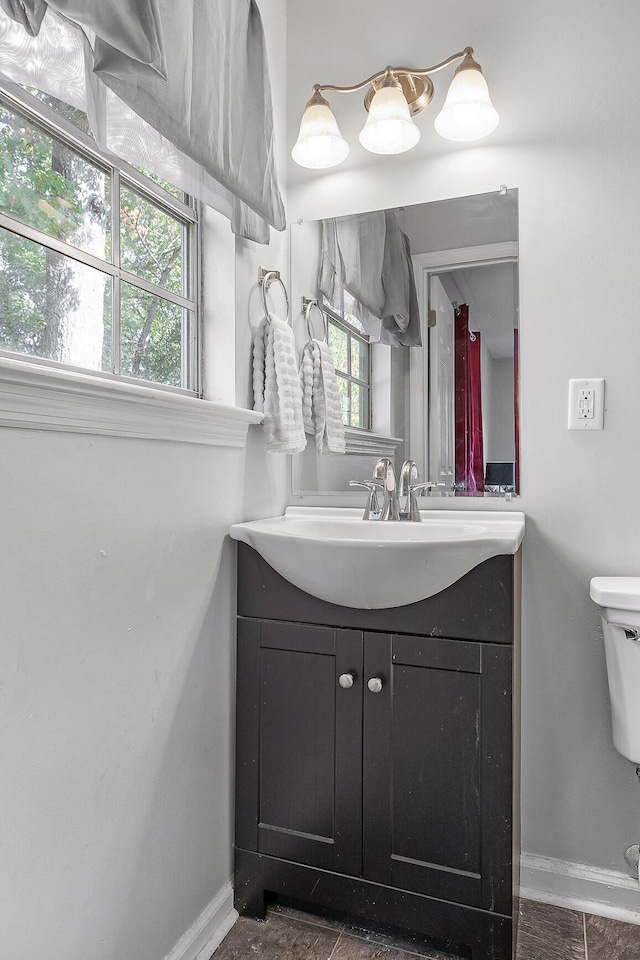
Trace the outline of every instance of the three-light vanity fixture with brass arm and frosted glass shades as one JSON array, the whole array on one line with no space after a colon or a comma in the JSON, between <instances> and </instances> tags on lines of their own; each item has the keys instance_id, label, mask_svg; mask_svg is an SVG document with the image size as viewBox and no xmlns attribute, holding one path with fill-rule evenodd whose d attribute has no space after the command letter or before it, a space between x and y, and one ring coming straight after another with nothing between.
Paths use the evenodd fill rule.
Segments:
<instances>
[{"instance_id":1,"label":"three-light vanity fixture with brass arm and frosted glass shades","mask_svg":"<svg viewBox=\"0 0 640 960\"><path fill-rule=\"evenodd\" d=\"M434 86L430 74L460 60L447 93L444 107L434 126L447 140L479 140L498 126L498 113L491 103L487 81L480 64L473 59L473 47L465 47L435 67L409 70L387 67L362 83L339 87L316 83L300 124L298 139L291 156L301 167L324 169L342 163L349 154L349 144L342 137L336 118L323 90L354 93L369 87L364 106L369 116L360 131L360 143L371 153L404 153L415 147L420 130L413 116L431 103Z\"/></svg>"}]
</instances>

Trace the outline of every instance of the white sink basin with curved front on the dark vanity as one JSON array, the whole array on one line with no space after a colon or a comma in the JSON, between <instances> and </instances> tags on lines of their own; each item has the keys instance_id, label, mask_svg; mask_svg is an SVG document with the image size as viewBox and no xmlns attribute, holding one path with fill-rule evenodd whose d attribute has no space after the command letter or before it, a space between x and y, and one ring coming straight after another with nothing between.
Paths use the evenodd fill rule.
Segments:
<instances>
[{"instance_id":1,"label":"white sink basin with curved front on the dark vanity","mask_svg":"<svg viewBox=\"0 0 640 960\"><path fill-rule=\"evenodd\" d=\"M423 510L422 523L363 520L362 510L288 507L230 533L285 580L343 607L402 607L439 593L501 553L515 553L524 514Z\"/></svg>"}]
</instances>

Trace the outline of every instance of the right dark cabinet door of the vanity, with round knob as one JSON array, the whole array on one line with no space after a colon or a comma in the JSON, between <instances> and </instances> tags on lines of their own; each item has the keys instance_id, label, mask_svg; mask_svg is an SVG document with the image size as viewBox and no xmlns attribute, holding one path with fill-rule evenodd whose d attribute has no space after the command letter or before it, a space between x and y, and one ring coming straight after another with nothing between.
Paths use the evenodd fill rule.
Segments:
<instances>
[{"instance_id":1,"label":"right dark cabinet door of the vanity, with round knob","mask_svg":"<svg viewBox=\"0 0 640 960\"><path fill-rule=\"evenodd\" d=\"M364 876L508 912L511 650L372 633L364 651Z\"/></svg>"}]
</instances>

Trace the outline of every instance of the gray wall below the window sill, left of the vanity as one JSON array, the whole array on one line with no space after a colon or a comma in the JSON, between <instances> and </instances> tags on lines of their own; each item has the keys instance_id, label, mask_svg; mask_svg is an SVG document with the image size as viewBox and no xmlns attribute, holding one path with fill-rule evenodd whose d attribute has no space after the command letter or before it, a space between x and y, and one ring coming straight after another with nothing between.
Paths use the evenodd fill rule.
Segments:
<instances>
[{"instance_id":1,"label":"gray wall below the window sill, left of the vanity","mask_svg":"<svg viewBox=\"0 0 640 960\"><path fill-rule=\"evenodd\" d=\"M2 952L157 960L231 874L234 450L0 431Z\"/></svg>"}]
</instances>

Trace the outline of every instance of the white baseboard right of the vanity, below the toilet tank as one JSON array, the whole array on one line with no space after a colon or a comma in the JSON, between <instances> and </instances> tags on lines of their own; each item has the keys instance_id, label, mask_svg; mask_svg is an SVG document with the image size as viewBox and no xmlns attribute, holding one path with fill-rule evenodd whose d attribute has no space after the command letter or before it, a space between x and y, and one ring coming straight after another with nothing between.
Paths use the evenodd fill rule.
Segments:
<instances>
[{"instance_id":1,"label":"white baseboard right of the vanity, below the toilet tank","mask_svg":"<svg viewBox=\"0 0 640 960\"><path fill-rule=\"evenodd\" d=\"M520 896L640 924L640 883L615 870L523 853Z\"/></svg>"}]
</instances>

